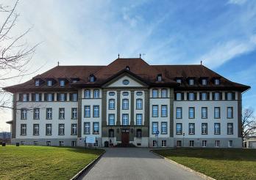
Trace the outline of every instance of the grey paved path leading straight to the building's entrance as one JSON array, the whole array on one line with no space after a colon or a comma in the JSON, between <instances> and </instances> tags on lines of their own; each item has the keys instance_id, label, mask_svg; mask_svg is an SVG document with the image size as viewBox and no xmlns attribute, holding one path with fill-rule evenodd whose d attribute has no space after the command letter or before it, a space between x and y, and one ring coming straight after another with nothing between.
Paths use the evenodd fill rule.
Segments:
<instances>
[{"instance_id":1,"label":"grey paved path leading straight to the building's entrance","mask_svg":"<svg viewBox=\"0 0 256 180\"><path fill-rule=\"evenodd\" d=\"M81 179L202 179L177 165L139 148L108 148L99 162Z\"/></svg>"}]
</instances>

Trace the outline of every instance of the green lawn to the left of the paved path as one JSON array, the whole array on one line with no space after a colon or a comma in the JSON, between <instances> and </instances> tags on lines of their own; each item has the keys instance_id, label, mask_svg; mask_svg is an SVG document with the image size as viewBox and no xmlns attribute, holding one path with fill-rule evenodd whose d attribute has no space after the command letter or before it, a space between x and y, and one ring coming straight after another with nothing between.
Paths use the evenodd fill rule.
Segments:
<instances>
[{"instance_id":1,"label":"green lawn to the left of the paved path","mask_svg":"<svg viewBox=\"0 0 256 180\"><path fill-rule=\"evenodd\" d=\"M0 146L0 179L71 179L102 149Z\"/></svg>"}]
</instances>

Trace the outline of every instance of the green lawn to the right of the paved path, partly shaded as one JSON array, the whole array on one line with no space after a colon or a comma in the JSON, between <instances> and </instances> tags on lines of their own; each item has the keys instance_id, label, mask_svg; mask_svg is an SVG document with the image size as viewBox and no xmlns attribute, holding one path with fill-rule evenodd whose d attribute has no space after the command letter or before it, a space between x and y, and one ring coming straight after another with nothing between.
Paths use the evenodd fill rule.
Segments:
<instances>
[{"instance_id":1,"label":"green lawn to the right of the paved path, partly shaded","mask_svg":"<svg viewBox=\"0 0 256 180\"><path fill-rule=\"evenodd\" d=\"M256 149L168 149L154 152L215 179L256 179Z\"/></svg>"}]
</instances>

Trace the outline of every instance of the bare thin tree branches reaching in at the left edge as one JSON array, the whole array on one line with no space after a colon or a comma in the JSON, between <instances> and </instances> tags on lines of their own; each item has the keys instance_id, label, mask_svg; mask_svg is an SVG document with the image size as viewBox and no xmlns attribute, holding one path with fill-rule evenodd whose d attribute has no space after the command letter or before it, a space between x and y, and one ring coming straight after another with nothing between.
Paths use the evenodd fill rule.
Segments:
<instances>
[{"instance_id":1,"label":"bare thin tree branches reaching in at the left edge","mask_svg":"<svg viewBox=\"0 0 256 180\"><path fill-rule=\"evenodd\" d=\"M18 0L13 6L0 4L0 108L11 108L10 94L2 89L7 80L22 78L31 75L29 61L31 61L37 45L30 46L26 42L26 35L30 29L15 34L19 14L16 12Z\"/></svg>"}]
</instances>

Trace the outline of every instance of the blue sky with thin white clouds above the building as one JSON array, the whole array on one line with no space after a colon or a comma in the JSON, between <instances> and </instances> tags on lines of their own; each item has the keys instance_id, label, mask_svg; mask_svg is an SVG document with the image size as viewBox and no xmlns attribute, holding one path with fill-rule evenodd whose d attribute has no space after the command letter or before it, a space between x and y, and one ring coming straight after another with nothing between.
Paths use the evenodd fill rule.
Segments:
<instances>
[{"instance_id":1,"label":"blue sky with thin white clouds above the building","mask_svg":"<svg viewBox=\"0 0 256 180\"><path fill-rule=\"evenodd\" d=\"M31 28L26 41L40 44L28 64L36 72L7 80L6 86L23 83L57 61L107 65L118 53L121 58L141 53L149 64L202 60L225 78L251 86L243 94L243 108L256 108L256 1L21 0L16 12L12 33ZM0 111L0 132L10 130L5 121L11 119L10 110Z\"/></svg>"}]
</instances>

